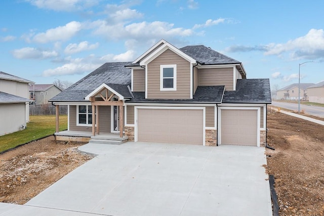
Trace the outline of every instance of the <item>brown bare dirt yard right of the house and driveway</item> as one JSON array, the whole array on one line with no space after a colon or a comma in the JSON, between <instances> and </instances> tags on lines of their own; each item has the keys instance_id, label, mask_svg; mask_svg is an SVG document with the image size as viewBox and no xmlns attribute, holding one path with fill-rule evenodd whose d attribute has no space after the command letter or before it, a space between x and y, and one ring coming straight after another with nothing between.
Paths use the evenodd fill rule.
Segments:
<instances>
[{"instance_id":1,"label":"brown bare dirt yard right of the house and driveway","mask_svg":"<svg viewBox=\"0 0 324 216\"><path fill-rule=\"evenodd\" d=\"M269 113L267 128L279 215L324 215L324 126Z\"/></svg>"}]
</instances>

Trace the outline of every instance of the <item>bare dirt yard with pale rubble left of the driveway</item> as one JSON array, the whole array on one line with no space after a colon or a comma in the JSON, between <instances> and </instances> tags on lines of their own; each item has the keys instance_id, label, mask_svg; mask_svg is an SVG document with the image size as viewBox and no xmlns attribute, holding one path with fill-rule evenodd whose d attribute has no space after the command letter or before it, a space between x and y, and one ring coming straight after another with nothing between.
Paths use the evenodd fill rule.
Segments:
<instances>
[{"instance_id":1,"label":"bare dirt yard with pale rubble left of the driveway","mask_svg":"<svg viewBox=\"0 0 324 216\"><path fill-rule=\"evenodd\" d=\"M49 136L0 155L0 202L24 204L92 159L77 152L83 144Z\"/></svg>"}]
</instances>

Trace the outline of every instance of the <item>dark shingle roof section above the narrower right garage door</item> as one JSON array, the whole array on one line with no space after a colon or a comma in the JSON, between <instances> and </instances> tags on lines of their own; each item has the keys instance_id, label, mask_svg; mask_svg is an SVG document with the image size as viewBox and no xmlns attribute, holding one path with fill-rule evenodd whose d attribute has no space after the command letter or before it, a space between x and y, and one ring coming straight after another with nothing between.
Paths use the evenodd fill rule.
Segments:
<instances>
[{"instance_id":1,"label":"dark shingle roof section above the narrower right garage door","mask_svg":"<svg viewBox=\"0 0 324 216\"><path fill-rule=\"evenodd\" d=\"M223 103L271 103L269 79L237 80L235 91L225 91Z\"/></svg>"}]
</instances>

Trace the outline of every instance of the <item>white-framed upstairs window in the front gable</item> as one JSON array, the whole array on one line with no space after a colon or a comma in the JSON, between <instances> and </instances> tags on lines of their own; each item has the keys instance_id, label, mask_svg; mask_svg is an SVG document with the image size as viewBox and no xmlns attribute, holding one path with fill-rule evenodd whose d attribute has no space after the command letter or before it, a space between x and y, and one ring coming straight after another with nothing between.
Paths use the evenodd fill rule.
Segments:
<instances>
[{"instance_id":1,"label":"white-framed upstairs window in the front gable","mask_svg":"<svg viewBox=\"0 0 324 216\"><path fill-rule=\"evenodd\" d=\"M177 90L177 65L160 65L160 91Z\"/></svg>"}]
</instances>

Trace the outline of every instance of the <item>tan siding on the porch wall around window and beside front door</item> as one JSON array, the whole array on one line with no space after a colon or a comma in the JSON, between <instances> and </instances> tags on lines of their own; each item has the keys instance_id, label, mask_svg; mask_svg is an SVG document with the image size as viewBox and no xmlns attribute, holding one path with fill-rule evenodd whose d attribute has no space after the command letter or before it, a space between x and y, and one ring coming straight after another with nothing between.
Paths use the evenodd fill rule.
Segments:
<instances>
[{"instance_id":1,"label":"tan siding on the porch wall around window and beside front door","mask_svg":"<svg viewBox=\"0 0 324 216\"><path fill-rule=\"evenodd\" d=\"M69 112L70 130L92 131L92 126L76 126L76 105L70 105ZM99 131L110 132L110 106L99 106Z\"/></svg>"}]
</instances>

